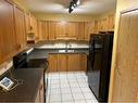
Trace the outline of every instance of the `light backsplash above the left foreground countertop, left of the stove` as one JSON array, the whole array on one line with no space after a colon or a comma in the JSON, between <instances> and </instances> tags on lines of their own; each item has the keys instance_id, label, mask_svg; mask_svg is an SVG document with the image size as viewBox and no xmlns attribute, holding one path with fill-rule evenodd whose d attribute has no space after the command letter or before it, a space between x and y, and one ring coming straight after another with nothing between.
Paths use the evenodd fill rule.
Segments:
<instances>
[{"instance_id":1,"label":"light backsplash above the left foreground countertop, left of the stove","mask_svg":"<svg viewBox=\"0 0 138 103\"><path fill-rule=\"evenodd\" d=\"M0 75L5 73L8 69L10 69L13 66L13 61L10 60L8 62L4 62L2 65L0 65Z\"/></svg>"}]
</instances>

